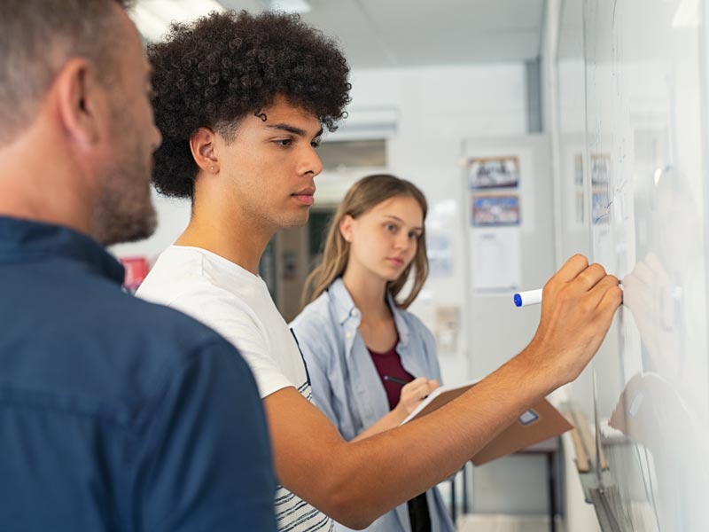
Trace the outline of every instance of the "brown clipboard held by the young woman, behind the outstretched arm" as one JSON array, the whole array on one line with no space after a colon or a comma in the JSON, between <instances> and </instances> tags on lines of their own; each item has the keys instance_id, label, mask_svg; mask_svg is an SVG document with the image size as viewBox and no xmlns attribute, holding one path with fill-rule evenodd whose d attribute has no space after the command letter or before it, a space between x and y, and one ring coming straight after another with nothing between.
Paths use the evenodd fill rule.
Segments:
<instances>
[{"instance_id":1,"label":"brown clipboard held by the young woman, behind the outstretched arm","mask_svg":"<svg viewBox=\"0 0 709 532\"><path fill-rule=\"evenodd\" d=\"M413 419L419 419L432 411L438 410L450 403L459 395L463 395L475 382L469 382L456 387L438 387L422 401L409 416L401 421L401 425ZM497 434L485 447L471 458L474 465L483 465L495 458L507 456L518 450L526 449L535 443L543 442L571 430L573 425L557 411L546 399L534 403L528 410L516 419L503 432Z\"/></svg>"}]
</instances>

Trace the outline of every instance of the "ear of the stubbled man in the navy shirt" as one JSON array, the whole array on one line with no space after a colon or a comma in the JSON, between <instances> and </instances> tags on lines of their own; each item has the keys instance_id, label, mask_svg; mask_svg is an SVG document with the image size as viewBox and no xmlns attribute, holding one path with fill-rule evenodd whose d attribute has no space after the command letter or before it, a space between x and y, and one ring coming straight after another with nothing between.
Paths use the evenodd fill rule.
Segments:
<instances>
[{"instance_id":1,"label":"ear of the stubbled man in the navy shirt","mask_svg":"<svg viewBox=\"0 0 709 532\"><path fill-rule=\"evenodd\" d=\"M62 127L80 145L95 145L110 120L105 86L86 59L70 59L59 70L53 87Z\"/></svg>"}]
</instances>

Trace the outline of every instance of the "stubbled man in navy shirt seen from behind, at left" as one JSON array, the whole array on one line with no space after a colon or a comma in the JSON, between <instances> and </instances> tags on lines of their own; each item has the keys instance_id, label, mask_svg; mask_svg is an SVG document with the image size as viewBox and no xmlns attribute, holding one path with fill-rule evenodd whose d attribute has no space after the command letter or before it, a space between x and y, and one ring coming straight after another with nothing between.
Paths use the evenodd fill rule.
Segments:
<instances>
[{"instance_id":1,"label":"stubbled man in navy shirt seen from behind, at left","mask_svg":"<svg viewBox=\"0 0 709 532\"><path fill-rule=\"evenodd\" d=\"M0 4L0 530L275 530L238 352L121 291L155 225L149 67L116 0Z\"/></svg>"}]
</instances>

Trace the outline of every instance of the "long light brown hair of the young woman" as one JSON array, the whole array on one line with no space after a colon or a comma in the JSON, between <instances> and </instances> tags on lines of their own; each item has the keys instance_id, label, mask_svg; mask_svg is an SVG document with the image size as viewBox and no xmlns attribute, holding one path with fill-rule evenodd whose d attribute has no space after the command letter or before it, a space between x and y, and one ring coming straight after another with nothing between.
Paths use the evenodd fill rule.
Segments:
<instances>
[{"instance_id":1,"label":"long light brown hair of the young woman","mask_svg":"<svg viewBox=\"0 0 709 532\"><path fill-rule=\"evenodd\" d=\"M428 204L424 193L417 186L405 179L388 174L377 174L360 179L347 191L345 199L339 204L338 210L330 223L327 239L323 250L323 262L313 270L305 281L300 301L303 306L315 301L331 282L342 276L349 259L349 243L339 232L339 223L346 215L357 218L382 201L396 196L409 196L417 200L426 218ZM406 309L417 298L428 277L428 256L426 255L425 228L418 238L414 260L401 272L401 276L386 285L386 290L392 295L394 304L400 309ZM414 271L414 284L404 301L396 301L396 296L409 280L411 270Z\"/></svg>"}]
</instances>

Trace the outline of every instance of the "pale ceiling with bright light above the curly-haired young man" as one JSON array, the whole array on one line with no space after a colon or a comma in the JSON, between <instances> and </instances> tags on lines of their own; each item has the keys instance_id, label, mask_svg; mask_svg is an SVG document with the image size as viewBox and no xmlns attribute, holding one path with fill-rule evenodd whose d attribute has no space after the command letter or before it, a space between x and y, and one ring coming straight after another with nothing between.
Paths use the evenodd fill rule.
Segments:
<instances>
[{"instance_id":1,"label":"pale ceiling with bright light above the curly-haired young man","mask_svg":"<svg viewBox=\"0 0 709 532\"><path fill-rule=\"evenodd\" d=\"M267 1L219 0L219 4L257 12L266 9ZM354 68L517 62L540 55L544 0L309 0L309 4L311 11L303 19L336 37ZM138 0L136 10L151 6L170 20L188 17L188 12L190 17L206 13L214 3L210 7L206 0Z\"/></svg>"}]
</instances>

